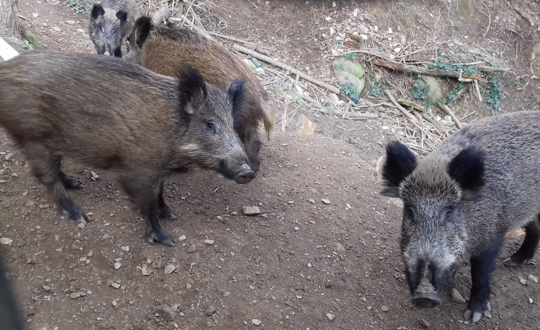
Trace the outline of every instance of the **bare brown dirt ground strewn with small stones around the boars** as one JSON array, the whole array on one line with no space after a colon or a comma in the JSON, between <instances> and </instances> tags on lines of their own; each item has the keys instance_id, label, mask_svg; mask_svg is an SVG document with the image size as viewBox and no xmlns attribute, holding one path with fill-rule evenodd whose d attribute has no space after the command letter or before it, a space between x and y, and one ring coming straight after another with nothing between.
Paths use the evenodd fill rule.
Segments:
<instances>
[{"instance_id":1,"label":"bare brown dirt ground strewn with small stones around the boars","mask_svg":"<svg viewBox=\"0 0 540 330\"><path fill-rule=\"evenodd\" d=\"M263 45L273 57L321 79L332 78L329 29L335 22L499 49L496 63L512 70L502 80L506 98L499 110L538 109L538 81L522 90L516 81L530 78L540 5L514 5L536 25L506 1L473 0L335 6L322 0L223 0L207 3L206 19L210 31ZM360 15L353 15L355 9ZM87 17L65 3L20 0L19 10L41 49L93 52ZM281 92L270 93L280 118ZM462 104L464 112L482 106ZM80 230L61 219L24 155L0 131L0 234L13 240L1 248L28 328L421 329L421 319L429 329L472 326L463 321L466 305L454 302L449 289L437 309L410 302L397 244L401 208L378 195L375 175L384 143L396 136L384 129L387 123L300 112L315 123L315 134L278 129L265 143L261 170L250 184L199 171L165 185L165 199L180 215L162 222L175 247L146 242L139 213L106 171L66 164L85 183L70 194L93 222ZM244 216L243 206L258 206L261 215ZM506 242L493 277L491 318L475 327L540 329L540 284L519 282L529 274L540 277L540 265L501 264L522 239ZM195 252L188 252L192 244ZM468 267L459 268L454 282L464 297L471 284Z\"/></svg>"}]
</instances>

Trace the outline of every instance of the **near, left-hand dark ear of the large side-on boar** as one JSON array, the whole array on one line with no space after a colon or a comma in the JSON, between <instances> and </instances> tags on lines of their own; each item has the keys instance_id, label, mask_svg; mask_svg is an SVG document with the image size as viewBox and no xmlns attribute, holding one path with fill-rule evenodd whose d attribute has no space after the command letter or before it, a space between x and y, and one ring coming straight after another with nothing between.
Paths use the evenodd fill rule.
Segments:
<instances>
[{"instance_id":1,"label":"near, left-hand dark ear of the large side-on boar","mask_svg":"<svg viewBox=\"0 0 540 330\"><path fill-rule=\"evenodd\" d=\"M206 85L199 71L189 64L178 68L178 92L180 95L180 111L193 115L206 96Z\"/></svg>"}]
</instances>

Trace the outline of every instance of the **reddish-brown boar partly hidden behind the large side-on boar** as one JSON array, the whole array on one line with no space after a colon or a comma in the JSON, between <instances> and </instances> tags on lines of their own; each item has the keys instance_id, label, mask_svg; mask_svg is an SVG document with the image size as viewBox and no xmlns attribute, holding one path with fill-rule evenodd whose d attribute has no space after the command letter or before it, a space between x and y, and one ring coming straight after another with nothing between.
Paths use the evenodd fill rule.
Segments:
<instances>
[{"instance_id":1,"label":"reddish-brown boar partly hidden behind the large side-on boar","mask_svg":"<svg viewBox=\"0 0 540 330\"><path fill-rule=\"evenodd\" d=\"M255 73L219 43L188 29L170 29L153 24L150 17L137 19L129 38L128 61L150 70L173 76L178 63L188 62L200 71L205 81L225 88L235 78L245 80L245 102L235 113L235 130L242 140L255 171L259 169L259 150L263 143L258 126L264 123L268 135L274 129L268 93Z\"/></svg>"}]
</instances>

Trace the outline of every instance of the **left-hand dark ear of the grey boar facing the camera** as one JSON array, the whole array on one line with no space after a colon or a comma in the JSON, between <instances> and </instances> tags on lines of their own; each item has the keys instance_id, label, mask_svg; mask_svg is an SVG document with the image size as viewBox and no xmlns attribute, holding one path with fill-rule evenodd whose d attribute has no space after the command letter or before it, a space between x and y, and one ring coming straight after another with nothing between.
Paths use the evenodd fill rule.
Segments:
<instances>
[{"instance_id":1,"label":"left-hand dark ear of the grey boar facing the camera","mask_svg":"<svg viewBox=\"0 0 540 330\"><path fill-rule=\"evenodd\" d=\"M417 167L417 158L407 145L395 140L386 146L386 160L382 166L384 189L381 195L399 197L399 183Z\"/></svg>"}]
</instances>

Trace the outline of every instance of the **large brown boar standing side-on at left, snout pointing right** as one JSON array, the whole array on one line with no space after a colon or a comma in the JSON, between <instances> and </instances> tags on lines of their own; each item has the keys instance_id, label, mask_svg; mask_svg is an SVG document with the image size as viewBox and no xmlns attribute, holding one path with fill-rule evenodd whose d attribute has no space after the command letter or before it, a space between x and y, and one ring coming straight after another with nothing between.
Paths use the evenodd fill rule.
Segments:
<instances>
[{"instance_id":1,"label":"large brown boar standing side-on at left, snout pointing right","mask_svg":"<svg viewBox=\"0 0 540 330\"><path fill-rule=\"evenodd\" d=\"M81 182L60 169L65 155L115 171L148 241L172 246L158 221L175 218L163 200L167 177L195 167L238 183L255 177L233 128L243 93L243 81L223 92L188 65L171 78L121 58L29 53L0 63L0 125L64 215L88 220L66 195Z\"/></svg>"}]
</instances>

